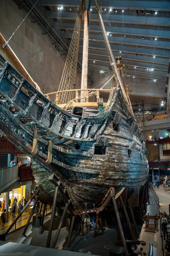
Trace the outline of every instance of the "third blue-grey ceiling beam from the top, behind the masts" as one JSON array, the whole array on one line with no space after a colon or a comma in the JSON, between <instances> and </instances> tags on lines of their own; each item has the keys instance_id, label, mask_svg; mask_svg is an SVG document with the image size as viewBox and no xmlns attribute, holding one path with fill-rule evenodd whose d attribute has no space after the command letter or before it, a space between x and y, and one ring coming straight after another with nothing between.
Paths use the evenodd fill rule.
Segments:
<instances>
[{"instance_id":1,"label":"third blue-grey ceiling beam from the top, behind the masts","mask_svg":"<svg viewBox=\"0 0 170 256\"><path fill-rule=\"evenodd\" d=\"M143 17L142 17L143 18ZM74 29L74 23L65 22L54 22L54 26L57 29ZM82 31L83 31L82 24ZM155 38L170 38L170 30L160 30L160 29L139 29L130 27L119 27L119 26L105 26L106 31L109 34L121 34L121 35L136 35L144 37L155 37ZM101 26L90 24L91 32L102 32Z\"/></svg>"}]
</instances>

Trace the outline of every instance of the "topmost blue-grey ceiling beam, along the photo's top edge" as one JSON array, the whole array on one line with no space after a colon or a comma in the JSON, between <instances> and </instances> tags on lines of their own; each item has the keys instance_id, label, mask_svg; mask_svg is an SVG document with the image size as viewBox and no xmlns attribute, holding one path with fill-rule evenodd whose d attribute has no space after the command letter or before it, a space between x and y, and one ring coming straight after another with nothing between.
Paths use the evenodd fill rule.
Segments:
<instances>
[{"instance_id":1,"label":"topmost blue-grey ceiling beam, along the photo's top edge","mask_svg":"<svg viewBox=\"0 0 170 256\"><path fill-rule=\"evenodd\" d=\"M80 0L77 0L79 5ZM100 4L100 3L99 3ZM70 0L39 0L38 5L41 6L66 6L74 7L74 1L71 3ZM170 12L169 1L134 1L134 0L103 0L103 8L114 8L114 9L130 9L130 10L150 10L150 11L164 11ZM96 8L94 0L91 1L91 8Z\"/></svg>"}]
</instances>

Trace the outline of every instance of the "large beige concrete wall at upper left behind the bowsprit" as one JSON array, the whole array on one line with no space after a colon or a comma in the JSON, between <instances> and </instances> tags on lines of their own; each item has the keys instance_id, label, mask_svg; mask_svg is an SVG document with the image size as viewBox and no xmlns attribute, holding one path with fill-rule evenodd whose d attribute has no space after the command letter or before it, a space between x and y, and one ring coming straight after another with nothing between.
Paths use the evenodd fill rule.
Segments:
<instances>
[{"instance_id":1,"label":"large beige concrete wall at upper left behind the bowsprit","mask_svg":"<svg viewBox=\"0 0 170 256\"><path fill-rule=\"evenodd\" d=\"M13 0L0 1L0 32L8 40L27 12L18 9ZM15 35L9 41L17 57L40 86L42 93L58 90L64 69L65 55L55 49L48 36L42 35L42 29L37 23L31 23L30 15L26 18ZM2 53L2 46L0 46ZM5 53L3 53L5 56ZM77 88L81 85L81 74L77 74Z\"/></svg>"}]
</instances>

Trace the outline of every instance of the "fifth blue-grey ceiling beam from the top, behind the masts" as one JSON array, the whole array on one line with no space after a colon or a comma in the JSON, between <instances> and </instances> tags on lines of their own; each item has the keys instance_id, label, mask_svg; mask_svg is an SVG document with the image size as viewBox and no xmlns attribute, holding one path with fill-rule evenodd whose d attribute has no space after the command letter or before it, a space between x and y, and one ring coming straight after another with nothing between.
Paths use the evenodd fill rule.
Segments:
<instances>
[{"instance_id":1,"label":"fifth blue-grey ceiling beam from the top, behind the masts","mask_svg":"<svg viewBox=\"0 0 170 256\"><path fill-rule=\"evenodd\" d=\"M68 40L70 43L70 40ZM80 41L80 47L83 46L83 42ZM97 50L105 50L106 49L106 45L102 44L102 43L91 43L89 42L89 48L93 49L97 49ZM126 53L137 53L137 54L142 54L142 55L153 55L153 56L157 56L157 57L167 57L170 58L170 51L165 51L165 50L157 50L157 49L146 49L146 48L139 48L139 47L128 47L128 46L122 46L122 45L114 45L111 44L111 49L113 50L113 52L126 52Z\"/></svg>"}]
</instances>

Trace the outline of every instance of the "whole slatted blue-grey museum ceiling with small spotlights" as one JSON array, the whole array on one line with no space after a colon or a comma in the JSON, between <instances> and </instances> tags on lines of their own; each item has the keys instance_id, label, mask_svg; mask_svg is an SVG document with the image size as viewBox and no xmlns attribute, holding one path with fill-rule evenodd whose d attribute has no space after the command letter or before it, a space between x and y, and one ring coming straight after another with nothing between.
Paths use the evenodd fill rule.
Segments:
<instances>
[{"instance_id":1,"label":"whole slatted blue-grey museum ceiling with small spotlights","mask_svg":"<svg viewBox=\"0 0 170 256\"><path fill-rule=\"evenodd\" d=\"M31 0L14 1L19 6L25 4L25 7L29 9L28 3ZM36 6L37 12L40 11L52 24L52 29L67 46L71 42L79 2L80 0L39 0ZM167 73L170 71L170 1L98 0L99 6L101 3L102 18L113 54L115 57L121 55L121 63L128 65L126 76L150 79L161 84L163 82L165 89L168 82ZM38 22L39 18L36 20L36 15L32 16ZM51 43L55 41L54 37L51 37ZM82 46L83 24L79 47L80 66ZM58 41L57 47L61 49L62 54L65 54L66 50ZM91 0L88 62L89 71L109 72L108 53L94 0ZM88 80L91 81L90 79L89 76ZM157 97L152 102L160 102L160 98Z\"/></svg>"}]
</instances>

